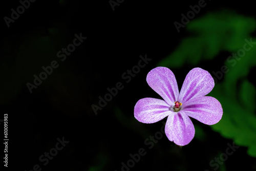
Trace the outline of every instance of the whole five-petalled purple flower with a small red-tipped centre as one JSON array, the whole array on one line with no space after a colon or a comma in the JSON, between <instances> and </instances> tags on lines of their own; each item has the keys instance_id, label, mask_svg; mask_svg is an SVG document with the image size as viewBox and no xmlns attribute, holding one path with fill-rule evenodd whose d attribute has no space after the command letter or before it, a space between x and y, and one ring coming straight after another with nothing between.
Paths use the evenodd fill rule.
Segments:
<instances>
[{"instance_id":1,"label":"whole five-petalled purple flower with a small red-tipped centre","mask_svg":"<svg viewBox=\"0 0 256 171\"><path fill-rule=\"evenodd\" d=\"M207 125L221 120L220 102L205 96L214 88L214 79L208 71L201 68L189 71L180 93L174 73L168 68L151 70L146 81L164 100L140 99L134 107L134 116L142 123L155 123L168 116L165 134L177 145L186 145L194 138L195 127L189 117Z\"/></svg>"}]
</instances>

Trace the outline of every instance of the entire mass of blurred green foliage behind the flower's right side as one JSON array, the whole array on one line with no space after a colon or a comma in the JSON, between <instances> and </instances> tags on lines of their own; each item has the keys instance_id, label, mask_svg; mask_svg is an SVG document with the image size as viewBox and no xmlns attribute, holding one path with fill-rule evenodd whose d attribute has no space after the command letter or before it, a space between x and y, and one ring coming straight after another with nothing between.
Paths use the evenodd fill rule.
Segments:
<instances>
[{"instance_id":1,"label":"entire mass of blurred green foliage behind the flower's right side","mask_svg":"<svg viewBox=\"0 0 256 171\"><path fill-rule=\"evenodd\" d=\"M177 49L157 66L179 68L189 63L196 67L200 60L211 62L221 51L238 53L238 50L244 48L245 39L250 41L250 33L255 28L256 22L252 17L226 10L209 13L190 21L186 29L193 36L182 39ZM252 42L256 42L256 39L252 38ZM211 125L211 128L223 137L232 139L237 145L247 146L248 154L253 157L256 157L256 91L247 80L247 75L256 66L255 55L256 48L253 46L241 58L226 60L223 63L227 67L224 80L218 82L208 94L217 98L223 108L222 119ZM177 58L178 61L175 60ZM216 71L221 72L221 69L217 68ZM196 136L200 139L200 132L196 134L199 134Z\"/></svg>"}]
</instances>

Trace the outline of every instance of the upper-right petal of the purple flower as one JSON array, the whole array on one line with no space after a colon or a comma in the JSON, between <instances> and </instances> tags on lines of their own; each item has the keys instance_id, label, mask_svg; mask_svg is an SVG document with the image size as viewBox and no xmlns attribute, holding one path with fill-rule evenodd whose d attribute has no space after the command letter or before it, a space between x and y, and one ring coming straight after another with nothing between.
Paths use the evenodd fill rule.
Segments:
<instances>
[{"instance_id":1,"label":"upper-right petal of the purple flower","mask_svg":"<svg viewBox=\"0 0 256 171\"><path fill-rule=\"evenodd\" d=\"M186 102L190 98L202 97L214 88L214 78L210 73L201 68L194 68L187 74L178 101Z\"/></svg>"}]
</instances>

